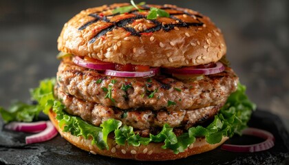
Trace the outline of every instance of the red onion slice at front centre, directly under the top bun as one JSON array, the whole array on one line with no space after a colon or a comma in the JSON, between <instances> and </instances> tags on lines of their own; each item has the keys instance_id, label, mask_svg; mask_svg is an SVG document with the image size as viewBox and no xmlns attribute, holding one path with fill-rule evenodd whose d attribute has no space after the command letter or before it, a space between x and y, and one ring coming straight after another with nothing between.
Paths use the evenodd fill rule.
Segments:
<instances>
[{"instance_id":1,"label":"red onion slice at front centre, directly under the top bun","mask_svg":"<svg viewBox=\"0 0 289 165\"><path fill-rule=\"evenodd\" d=\"M160 72L159 67L153 67L147 72L126 72L126 71L116 71L116 70L105 70L105 75L116 76L116 77L151 77L155 76Z\"/></svg>"}]
</instances>

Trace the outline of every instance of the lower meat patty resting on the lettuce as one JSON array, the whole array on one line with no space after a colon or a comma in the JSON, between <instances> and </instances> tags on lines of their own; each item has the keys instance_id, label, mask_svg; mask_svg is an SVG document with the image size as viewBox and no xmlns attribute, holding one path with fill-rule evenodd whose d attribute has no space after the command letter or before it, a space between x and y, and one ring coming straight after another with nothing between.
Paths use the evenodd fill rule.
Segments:
<instances>
[{"instance_id":1,"label":"lower meat patty resting on the lettuce","mask_svg":"<svg viewBox=\"0 0 289 165\"><path fill-rule=\"evenodd\" d=\"M123 111L114 107L105 107L94 102L87 102L74 96L65 94L61 89L56 89L55 94L65 105L67 113L77 115L83 120L99 126L105 120L114 118L123 124L133 126L135 129L145 130L152 127L162 127L169 124L171 127L184 127L189 129L195 124L213 118L221 106L209 106L191 111L153 111L151 109L130 109Z\"/></svg>"}]
</instances>

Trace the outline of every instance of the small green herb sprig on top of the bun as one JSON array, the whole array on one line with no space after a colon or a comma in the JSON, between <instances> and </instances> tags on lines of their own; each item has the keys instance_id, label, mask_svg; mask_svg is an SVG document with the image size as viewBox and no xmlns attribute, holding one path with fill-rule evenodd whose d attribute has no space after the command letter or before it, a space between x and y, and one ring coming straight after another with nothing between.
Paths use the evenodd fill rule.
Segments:
<instances>
[{"instance_id":1,"label":"small green herb sprig on top of the bun","mask_svg":"<svg viewBox=\"0 0 289 165\"><path fill-rule=\"evenodd\" d=\"M140 2L138 3L138 5L145 5L145 2ZM138 5L136 5L136 3L134 3L134 1L131 0L131 5L116 8L112 11L112 13L123 14L125 12L130 12L133 8L136 8L138 12L144 12L144 10L141 10L140 8L138 8ZM169 17L169 13L160 8L154 8L154 7L149 8L149 14L147 15L147 19L157 19L158 17Z\"/></svg>"}]
</instances>

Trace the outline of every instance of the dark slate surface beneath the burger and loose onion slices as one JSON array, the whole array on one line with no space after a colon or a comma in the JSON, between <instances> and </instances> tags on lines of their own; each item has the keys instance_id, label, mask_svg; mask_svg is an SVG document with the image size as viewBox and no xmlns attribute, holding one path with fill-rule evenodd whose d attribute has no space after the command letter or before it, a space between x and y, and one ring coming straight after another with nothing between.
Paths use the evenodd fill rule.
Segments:
<instances>
[{"instance_id":1,"label":"dark slate surface beneath the burger and loose onion slices","mask_svg":"<svg viewBox=\"0 0 289 165\"><path fill-rule=\"evenodd\" d=\"M257 153L231 153L217 148L207 153L166 162L138 162L92 155L72 146L60 135L39 144L25 145L26 133L3 130L0 120L0 164L288 164L289 135L283 123L272 113L255 111L250 126L265 129L275 135L275 146ZM226 143L255 144L252 137L233 137Z\"/></svg>"}]
</instances>

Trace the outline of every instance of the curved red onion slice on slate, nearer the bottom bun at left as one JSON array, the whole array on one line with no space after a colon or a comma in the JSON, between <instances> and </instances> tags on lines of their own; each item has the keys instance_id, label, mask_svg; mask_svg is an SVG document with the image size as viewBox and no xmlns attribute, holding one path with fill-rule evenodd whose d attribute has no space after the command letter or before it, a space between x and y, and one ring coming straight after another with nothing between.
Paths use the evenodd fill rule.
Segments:
<instances>
[{"instance_id":1,"label":"curved red onion slice on slate, nearer the bottom bun at left","mask_svg":"<svg viewBox=\"0 0 289 165\"><path fill-rule=\"evenodd\" d=\"M40 133L36 133L34 135L26 136L25 137L26 144L45 142L55 137L58 131L55 129L52 122L47 121L46 124L47 124L47 127L44 131Z\"/></svg>"}]
</instances>

